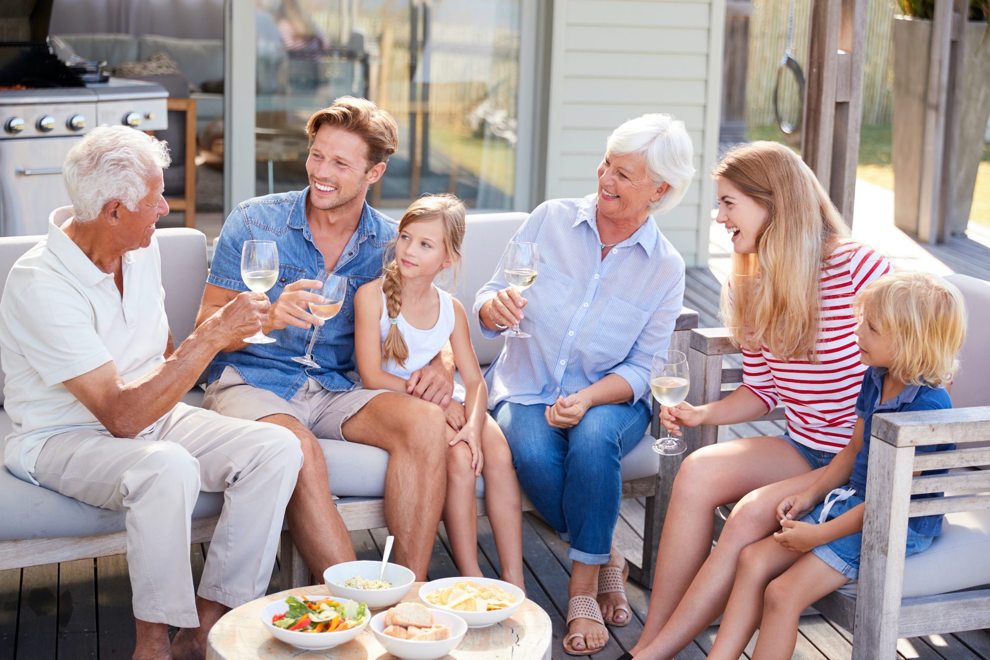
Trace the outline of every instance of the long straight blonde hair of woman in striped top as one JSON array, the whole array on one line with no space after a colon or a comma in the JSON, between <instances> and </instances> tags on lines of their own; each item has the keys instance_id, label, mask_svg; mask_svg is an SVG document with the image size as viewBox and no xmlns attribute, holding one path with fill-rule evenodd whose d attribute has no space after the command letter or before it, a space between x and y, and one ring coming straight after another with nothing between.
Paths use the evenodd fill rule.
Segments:
<instances>
[{"instance_id":1,"label":"long straight blonde hair of woman in striped top","mask_svg":"<svg viewBox=\"0 0 990 660\"><path fill-rule=\"evenodd\" d=\"M784 361L818 362L822 268L827 250L849 233L839 211L811 168L775 142L730 151L712 176L766 210L755 254L733 255L723 289L721 316L733 342L765 346Z\"/></svg>"}]
</instances>

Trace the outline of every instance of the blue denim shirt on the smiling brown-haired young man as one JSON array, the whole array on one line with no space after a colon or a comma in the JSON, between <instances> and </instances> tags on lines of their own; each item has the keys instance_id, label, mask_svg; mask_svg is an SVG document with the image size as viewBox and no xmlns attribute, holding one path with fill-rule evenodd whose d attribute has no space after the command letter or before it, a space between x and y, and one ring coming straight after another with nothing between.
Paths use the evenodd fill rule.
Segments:
<instances>
[{"instance_id":1,"label":"blue denim shirt on the smiling brown-haired young man","mask_svg":"<svg viewBox=\"0 0 990 660\"><path fill-rule=\"evenodd\" d=\"M207 282L235 291L248 290L241 278L241 249L247 240L274 241L278 246L278 280L267 293L272 302L286 284L315 278L327 265L306 221L308 194L309 187L239 204L224 223ZM381 275L385 251L397 228L394 220L365 202L357 229L336 267L327 268L347 276L347 298L341 312L317 328L313 359L320 367L291 360L306 353L312 330L289 325L269 333L276 340L273 344L247 344L240 351L218 354L210 363L207 380L213 383L231 366L248 385L271 390L285 400L291 399L308 378L330 391L352 389L354 383L347 372L355 369L354 291Z\"/></svg>"}]
</instances>

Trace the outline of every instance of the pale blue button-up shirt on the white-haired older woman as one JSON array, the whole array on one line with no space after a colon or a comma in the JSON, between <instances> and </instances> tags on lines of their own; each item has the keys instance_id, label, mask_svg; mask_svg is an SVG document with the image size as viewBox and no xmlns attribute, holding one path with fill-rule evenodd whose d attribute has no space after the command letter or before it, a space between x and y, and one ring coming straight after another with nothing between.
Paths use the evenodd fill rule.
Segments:
<instances>
[{"instance_id":1,"label":"pale blue button-up shirt on the white-haired older woman","mask_svg":"<svg viewBox=\"0 0 990 660\"><path fill-rule=\"evenodd\" d=\"M652 216L602 259L595 198L546 201L513 237L540 246L521 324L533 336L508 338L488 368L489 408L503 400L549 405L609 374L629 383L633 401L648 402L653 354L667 349L681 312L684 260ZM505 253L475 297L476 317L509 285L504 268Z\"/></svg>"}]
</instances>

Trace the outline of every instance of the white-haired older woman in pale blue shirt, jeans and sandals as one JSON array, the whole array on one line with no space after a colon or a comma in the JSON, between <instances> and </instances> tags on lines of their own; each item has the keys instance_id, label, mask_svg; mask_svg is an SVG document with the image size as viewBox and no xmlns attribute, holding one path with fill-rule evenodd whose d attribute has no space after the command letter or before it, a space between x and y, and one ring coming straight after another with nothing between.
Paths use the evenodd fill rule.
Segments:
<instances>
[{"instance_id":1,"label":"white-haired older woman in pale blue shirt, jeans and sandals","mask_svg":"<svg viewBox=\"0 0 990 660\"><path fill-rule=\"evenodd\" d=\"M628 567L611 550L619 462L644 437L650 362L681 309L684 261L653 216L680 201L691 160L683 122L626 122L609 137L598 192L541 204L513 239L540 246L529 298L508 286L503 256L474 303L486 336L520 321L532 334L507 340L486 375L488 404L524 490L570 542L563 647L573 655L605 645L605 621L630 618Z\"/></svg>"}]
</instances>

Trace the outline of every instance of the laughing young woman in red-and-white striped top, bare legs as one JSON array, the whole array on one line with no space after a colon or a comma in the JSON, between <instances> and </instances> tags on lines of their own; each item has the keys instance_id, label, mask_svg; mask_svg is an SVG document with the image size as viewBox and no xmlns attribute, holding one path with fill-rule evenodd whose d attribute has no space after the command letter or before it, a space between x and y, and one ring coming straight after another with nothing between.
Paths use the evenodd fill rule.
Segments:
<instances>
[{"instance_id":1,"label":"laughing young woman in red-and-white striped top, bare legs","mask_svg":"<svg viewBox=\"0 0 990 660\"><path fill-rule=\"evenodd\" d=\"M852 298L887 273L886 259L849 240L815 174L783 145L756 142L712 171L717 222L732 234L723 318L743 348L743 386L695 407L664 408L667 428L737 424L784 404L787 433L704 447L674 482L644 631L632 655L670 658L726 605L740 551L775 525L785 495L810 486L852 436L865 367ZM716 507L739 502L712 550ZM709 554L711 551L711 554Z\"/></svg>"}]
</instances>

